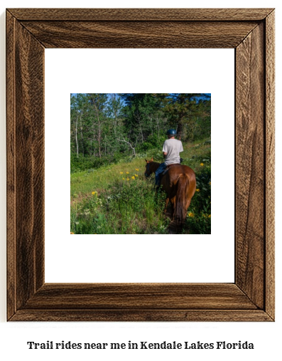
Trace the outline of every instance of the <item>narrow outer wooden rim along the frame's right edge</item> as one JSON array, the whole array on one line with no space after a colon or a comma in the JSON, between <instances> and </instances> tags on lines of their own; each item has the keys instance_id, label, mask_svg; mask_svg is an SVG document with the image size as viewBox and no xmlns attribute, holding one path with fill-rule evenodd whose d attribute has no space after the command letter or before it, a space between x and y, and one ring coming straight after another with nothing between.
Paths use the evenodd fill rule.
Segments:
<instances>
[{"instance_id":1,"label":"narrow outer wooden rim along the frame's right edge","mask_svg":"<svg viewBox=\"0 0 282 361\"><path fill-rule=\"evenodd\" d=\"M266 312L274 318L275 238L275 14L266 17Z\"/></svg>"}]
</instances>

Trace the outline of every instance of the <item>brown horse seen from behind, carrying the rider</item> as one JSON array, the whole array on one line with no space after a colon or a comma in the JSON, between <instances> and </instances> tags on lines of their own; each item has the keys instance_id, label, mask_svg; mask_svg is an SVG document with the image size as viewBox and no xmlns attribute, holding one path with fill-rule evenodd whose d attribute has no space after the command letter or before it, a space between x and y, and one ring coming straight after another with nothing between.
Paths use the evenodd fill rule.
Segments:
<instances>
[{"instance_id":1,"label":"brown horse seen from behind, carrying the rider","mask_svg":"<svg viewBox=\"0 0 282 361\"><path fill-rule=\"evenodd\" d=\"M145 176L149 177L156 172L159 165L160 163L153 162L153 158L146 160ZM166 207L169 201L173 206L173 221L182 226L196 190L195 172L187 165L172 166L161 178L161 187L166 192Z\"/></svg>"}]
</instances>

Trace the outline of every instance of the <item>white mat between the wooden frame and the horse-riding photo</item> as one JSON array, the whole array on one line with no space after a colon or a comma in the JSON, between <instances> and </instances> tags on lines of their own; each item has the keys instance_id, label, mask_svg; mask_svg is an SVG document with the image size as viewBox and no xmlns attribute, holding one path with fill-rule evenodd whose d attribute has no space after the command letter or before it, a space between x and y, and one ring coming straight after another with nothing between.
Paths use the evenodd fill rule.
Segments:
<instances>
[{"instance_id":1,"label":"white mat between the wooden frame and the horse-riding photo","mask_svg":"<svg viewBox=\"0 0 282 361\"><path fill-rule=\"evenodd\" d=\"M129 90L212 93L212 234L70 235L70 93ZM45 50L45 281L234 282L234 49Z\"/></svg>"}]
</instances>

